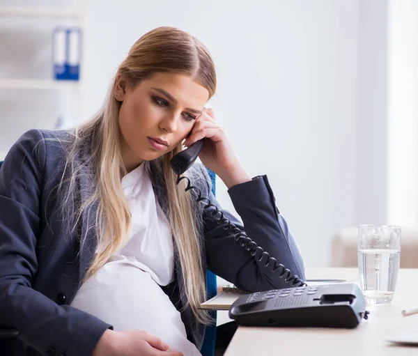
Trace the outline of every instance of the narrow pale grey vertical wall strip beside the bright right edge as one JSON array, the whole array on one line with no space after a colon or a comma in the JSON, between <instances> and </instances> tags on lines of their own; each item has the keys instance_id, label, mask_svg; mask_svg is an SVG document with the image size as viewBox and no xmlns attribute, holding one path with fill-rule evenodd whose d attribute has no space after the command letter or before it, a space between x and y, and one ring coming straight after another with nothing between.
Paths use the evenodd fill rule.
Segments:
<instances>
[{"instance_id":1,"label":"narrow pale grey vertical wall strip beside the bright right edge","mask_svg":"<svg viewBox=\"0 0 418 356\"><path fill-rule=\"evenodd\" d=\"M359 1L355 222L387 222L387 0Z\"/></svg>"}]
</instances>

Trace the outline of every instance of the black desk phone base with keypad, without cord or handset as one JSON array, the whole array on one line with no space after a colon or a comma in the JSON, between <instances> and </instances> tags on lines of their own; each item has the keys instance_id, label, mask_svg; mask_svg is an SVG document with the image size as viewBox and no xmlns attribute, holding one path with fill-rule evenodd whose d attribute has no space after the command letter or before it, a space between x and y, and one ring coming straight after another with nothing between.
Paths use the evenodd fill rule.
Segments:
<instances>
[{"instance_id":1,"label":"black desk phone base with keypad, without cord or handset","mask_svg":"<svg viewBox=\"0 0 418 356\"><path fill-rule=\"evenodd\" d=\"M238 325L354 328L369 311L357 284L274 289L242 295L229 309Z\"/></svg>"}]
</instances>

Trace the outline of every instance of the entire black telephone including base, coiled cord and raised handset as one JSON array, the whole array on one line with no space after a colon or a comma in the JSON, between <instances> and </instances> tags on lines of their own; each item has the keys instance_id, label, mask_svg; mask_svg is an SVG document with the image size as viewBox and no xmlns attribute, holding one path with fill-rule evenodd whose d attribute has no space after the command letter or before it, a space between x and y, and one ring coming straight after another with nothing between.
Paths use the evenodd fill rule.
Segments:
<instances>
[{"instance_id":1,"label":"entire black telephone including base, coiled cord and raised handset","mask_svg":"<svg viewBox=\"0 0 418 356\"><path fill-rule=\"evenodd\" d=\"M203 147L204 139L175 155L170 166L177 174L176 184L187 180L185 191L194 189L198 193L198 202L206 205L203 209L213 208L210 215L224 224L229 230L234 243L239 241L251 256L259 262L266 257L265 266L272 263L272 272L279 270L279 277L284 278L291 288L264 291L243 295L229 309L229 317L240 325L254 326L314 326L314 327L356 327L362 318L367 319L369 311L365 310L365 300L356 284L339 284L324 286L307 286L297 275L277 263L276 259L263 251L245 233L242 233L229 219L224 217L217 206L202 196L199 188L191 185L189 178L180 177L194 163ZM256 257L257 252L261 252Z\"/></svg>"}]
</instances>

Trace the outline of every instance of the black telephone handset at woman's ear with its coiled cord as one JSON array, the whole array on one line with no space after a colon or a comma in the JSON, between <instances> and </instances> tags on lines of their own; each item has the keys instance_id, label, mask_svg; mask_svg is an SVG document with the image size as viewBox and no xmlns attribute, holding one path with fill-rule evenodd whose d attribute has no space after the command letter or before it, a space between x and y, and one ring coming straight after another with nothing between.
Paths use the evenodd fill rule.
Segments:
<instances>
[{"instance_id":1,"label":"black telephone handset at woman's ear with its coiled cord","mask_svg":"<svg viewBox=\"0 0 418 356\"><path fill-rule=\"evenodd\" d=\"M229 219L224 217L224 214L222 213L222 211L220 211L217 208L217 206L210 203L210 200L207 197L202 196L199 188L191 185L189 178L187 178L186 176L180 177L180 175L185 173L185 171L187 171L187 169L189 169L189 167L192 166L194 161L197 159L201 149L203 148L203 144L204 144L204 139L196 141L194 144L192 144L192 146L189 146L188 148L186 148L185 150L181 151L180 153L175 155L173 158L171 158L170 166L173 169L173 171L177 174L176 184L178 185L180 181L183 179L187 180L187 187L185 191L187 192L190 189L196 190L196 192L198 193L197 201L198 202L206 201L207 203L203 207L203 209L208 210L210 208L213 208L213 211L210 212L210 214L212 215L212 217L218 220L219 224L226 225L224 227L225 230L231 231L231 235L229 237L234 238L234 243L239 241L240 245L244 247L247 251L249 251L251 256L254 256L254 258L256 258L256 254L258 252L261 252L258 256L258 261L261 262L263 258L266 257L267 259L265 261L265 266L267 267L268 265L270 265L270 263L273 263L272 272L279 270L279 277L284 278L284 280L290 283L291 286L306 285L304 281L302 281L302 279L297 277L297 275L292 275L291 270L288 270L287 268L284 267L284 265L277 263L275 258L270 257L270 254L265 252L261 247L257 246L256 242L251 240L247 235L245 235L245 233L242 233L242 231L240 231L238 227L232 224L229 221Z\"/></svg>"}]
</instances>

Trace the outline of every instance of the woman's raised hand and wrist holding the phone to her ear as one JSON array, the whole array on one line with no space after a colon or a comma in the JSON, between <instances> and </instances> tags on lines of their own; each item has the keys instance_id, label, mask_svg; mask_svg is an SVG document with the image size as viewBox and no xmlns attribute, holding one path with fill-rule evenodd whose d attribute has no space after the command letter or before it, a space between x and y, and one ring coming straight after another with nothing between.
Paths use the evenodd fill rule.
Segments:
<instances>
[{"instance_id":1,"label":"woman's raised hand and wrist holding the phone to her ear","mask_svg":"<svg viewBox=\"0 0 418 356\"><path fill-rule=\"evenodd\" d=\"M203 109L184 145L192 146L196 141L204 138L206 140L199 158L208 169L214 171L224 182L229 178L232 179L233 176L238 178L238 175L244 174L231 142L226 137L224 128L217 123L212 109Z\"/></svg>"}]
</instances>

